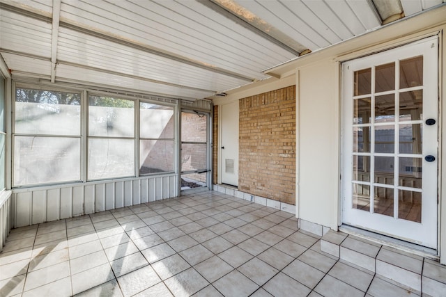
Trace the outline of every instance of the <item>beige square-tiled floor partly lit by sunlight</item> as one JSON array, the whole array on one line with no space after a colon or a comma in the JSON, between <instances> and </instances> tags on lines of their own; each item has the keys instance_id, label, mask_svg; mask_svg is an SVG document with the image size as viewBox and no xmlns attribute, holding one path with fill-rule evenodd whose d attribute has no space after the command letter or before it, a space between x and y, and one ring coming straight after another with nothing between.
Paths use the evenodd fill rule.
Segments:
<instances>
[{"instance_id":1,"label":"beige square-tiled floor partly lit by sunlight","mask_svg":"<svg viewBox=\"0 0 446 297\"><path fill-rule=\"evenodd\" d=\"M0 296L416 296L297 225L204 191L22 227L0 253Z\"/></svg>"}]
</instances>

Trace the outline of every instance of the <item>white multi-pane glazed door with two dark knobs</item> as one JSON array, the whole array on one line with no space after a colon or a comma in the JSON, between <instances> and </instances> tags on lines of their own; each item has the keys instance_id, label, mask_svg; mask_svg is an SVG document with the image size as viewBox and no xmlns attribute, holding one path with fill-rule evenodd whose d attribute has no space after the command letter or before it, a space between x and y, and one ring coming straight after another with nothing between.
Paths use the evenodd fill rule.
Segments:
<instances>
[{"instance_id":1,"label":"white multi-pane glazed door with two dark knobs","mask_svg":"<svg viewBox=\"0 0 446 297\"><path fill-rule=\"evenodd\" d=\"M342 65L342 220L437 248L438 38Z\"/></svg>"}]
</instances>

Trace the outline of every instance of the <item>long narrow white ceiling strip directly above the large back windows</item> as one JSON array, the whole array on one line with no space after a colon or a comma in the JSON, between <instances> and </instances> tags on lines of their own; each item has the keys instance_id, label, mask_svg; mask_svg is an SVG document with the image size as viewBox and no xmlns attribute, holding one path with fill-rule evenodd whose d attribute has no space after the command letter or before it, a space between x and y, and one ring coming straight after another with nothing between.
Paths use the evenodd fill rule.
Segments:
<instances>
[{"instance_id":1,"label":"long narrow white ceiling strip directly above the large back windows","mask_svg":"<svg viewBox=\"0 0 446 297\"><path fill-rule=\"evenodd\" d=\"M197 99L214 95L213 92L168 86L161 83L152 83L143 79L122 77L116 74L82 69L79 67L63 64L57 65L56 67L56 80L57 78L59 78L59 80L62 79L65 81L80 81L87 84L98 83L102 86L110 86L112 88L123 88L124 90L140 90L154 95L157 94L183 99Z\"/></svg>"}]
</instances>

